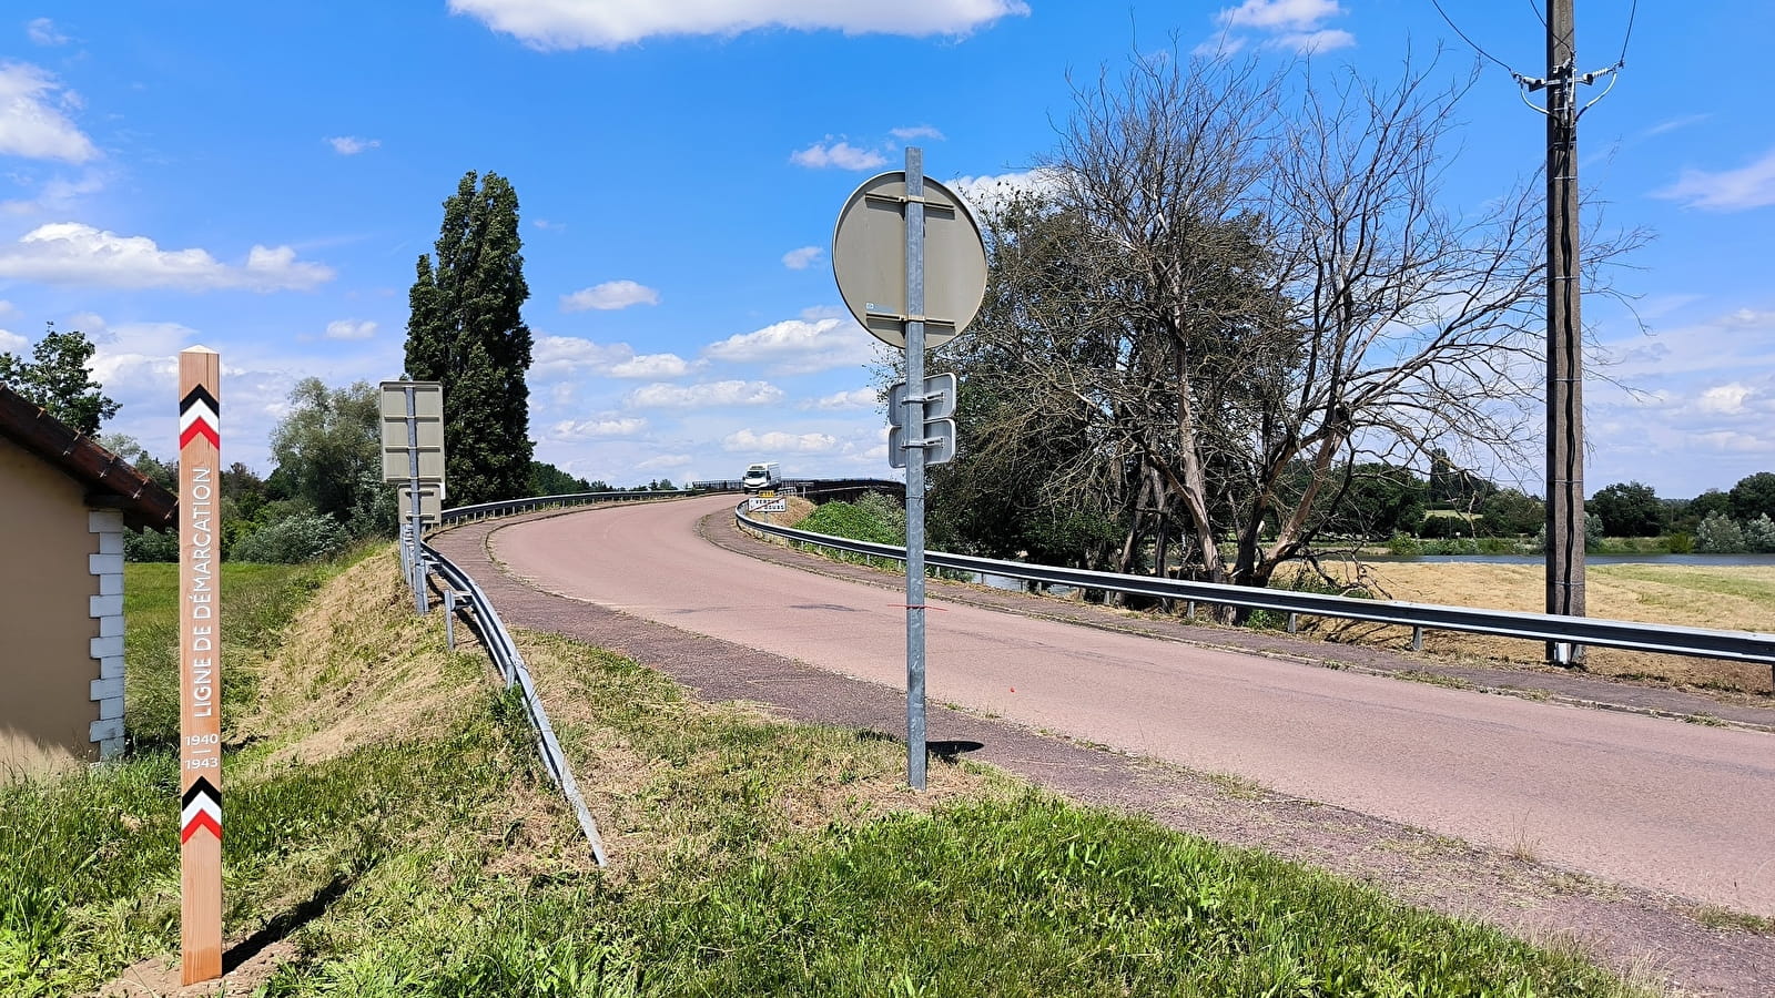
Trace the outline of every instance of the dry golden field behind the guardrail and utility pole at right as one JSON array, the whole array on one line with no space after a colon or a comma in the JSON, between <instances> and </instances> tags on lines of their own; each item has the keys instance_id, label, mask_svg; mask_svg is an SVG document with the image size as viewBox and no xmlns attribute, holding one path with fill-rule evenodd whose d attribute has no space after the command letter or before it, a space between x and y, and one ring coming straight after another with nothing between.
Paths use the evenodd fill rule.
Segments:
<instances>
[{"instance_id":1,"label":"dry golden field behind the guardrail and utility pole at right","mask_svg":"<svg viewBox=\"0 0 1775 998\"><path fill-rule=\"evenodd\" d=\"M1388 598L1408 602L1539 613L1546 600L1546 572L1539 565L1383 563L1367 565L1365 579ZM1592 565L1585 581L1590 616L1775 630L1771 565ZM1326 622L1321 630L1365 643L1404 643L1409 638L1404 629L1361 623ZM1537 641L1452 632L1427 632L1424 648L1512 662L1539 662L1542 653ZM1589 668L1605 675L1771 693L1770 666L1592 648Z\"/></svg>"}]
</instances>

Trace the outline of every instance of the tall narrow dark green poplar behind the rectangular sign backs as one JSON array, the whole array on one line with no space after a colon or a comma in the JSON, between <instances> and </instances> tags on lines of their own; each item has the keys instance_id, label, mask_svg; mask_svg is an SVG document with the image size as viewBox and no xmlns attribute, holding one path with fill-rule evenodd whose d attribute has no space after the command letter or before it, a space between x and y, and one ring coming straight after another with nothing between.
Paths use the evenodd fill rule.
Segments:
<instances>
[{"instance_id":1,"label":"tall narrow dark green poplar behind the rectangular sign backs","mask_svg":"<svg viewBox=\"0 0 1775 998\"><path fill-rule=\"evenodd\" d=\"M518 195L499 174L463 174L444 201L437 256L408 293L406 376L444 385L451 503L518 499L531 488L531 330Z\"/></svg>"}]
</instances>

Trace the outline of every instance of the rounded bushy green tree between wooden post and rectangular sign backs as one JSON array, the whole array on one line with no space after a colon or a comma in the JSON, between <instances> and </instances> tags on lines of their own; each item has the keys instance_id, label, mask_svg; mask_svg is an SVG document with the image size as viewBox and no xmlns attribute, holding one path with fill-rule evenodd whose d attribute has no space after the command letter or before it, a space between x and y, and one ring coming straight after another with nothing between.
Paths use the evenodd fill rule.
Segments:
<instances>
[{"instance_id":1,"label":"rounded bushy green tree between wooden post and rectangular sign backs","mask_svg":"<svg viewBox=\"0 0 1775 998\"><path fill-rule=\"evenodd\" d=\"M353 535L387 533L375 510L387 508L382 485L382 412L375 385L328 389L302 378L289 391L289 416L272 430L272 458L296 499ZM366 522L367 520L367 522Z\"/></svg>"}]
</instances>

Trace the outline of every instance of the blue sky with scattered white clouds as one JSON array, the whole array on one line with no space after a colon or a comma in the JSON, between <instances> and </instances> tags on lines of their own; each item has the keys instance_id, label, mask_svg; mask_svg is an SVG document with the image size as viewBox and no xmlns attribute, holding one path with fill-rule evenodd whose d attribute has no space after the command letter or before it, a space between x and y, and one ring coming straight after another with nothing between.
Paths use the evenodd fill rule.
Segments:
<instances>
[{"instance_id":1,"label":"blue sky with scattered white clouds","mask_svg":"<svg viewBox=\"0 0 1775 998\"><path fill-rule=\"evenodd\" d=\"M1443 0L1526 75L1532 4ZM1583 67L1631 0L1580 0ZM888 474L875 341L827 245L848 192L925 149L962 186L1030 169L1067 76L1129 51L1239 46L1395 75L1471 50L1422 0L405 0L7 4L0 21L0 350L44 321L99 345L106 430L176 449L174 355L224 362L224 448L261 474L302 376L401 375L406 288L469 170L522 202L538 456L612 483ZM1656 242L1587 302L1590 490L1729 488L1775 469L1775 117L1768 0L1640 5L1582 131L1608 220ZM1542 156L1503 69L1463 105L1450 197ZM1628 391L1631 389L1631 391ZM1541 469L1519 469L1539 490Z\"/></svg>"}]
</instances>

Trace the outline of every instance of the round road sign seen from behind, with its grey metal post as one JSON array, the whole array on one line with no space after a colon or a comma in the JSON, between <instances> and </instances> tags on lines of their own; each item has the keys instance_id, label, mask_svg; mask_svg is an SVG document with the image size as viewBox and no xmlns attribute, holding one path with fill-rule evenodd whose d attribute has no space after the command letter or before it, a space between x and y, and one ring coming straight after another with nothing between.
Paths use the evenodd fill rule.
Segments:
<instances>
[{"instance_id":1,"label":"round road sign seen from behind, with its grey metal post","mask_svg":"<svg viewBox=\"0 0 1775 998\"><path fill-rule=\"evenodd\" d=\"M903 242L895 245L902 233ZM863 329L889 346L905 348L905 384L918 385L916 391L896 392L903 408L889 419L903 428L895 435L903 453L891 455L889 462L895 467L900 460L905 463L905 781L923 790L925 463L927 451L943 444L941 433L934 437L927 430L927 403L941 400L941 392L932 394L925 384L925 346L962 332L980 309L987 279L985 245L967 206L943 185L925 179L923 149L907 147L903 174L864 181L840 211L832 233L832 273L845 305ZM927 334L927 325L939 327L939 332ZM953 455L953 448L951 423L946 453Z\"/></svg>"}]
</instances>

